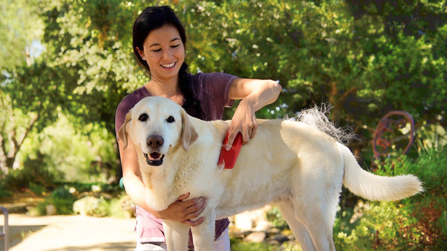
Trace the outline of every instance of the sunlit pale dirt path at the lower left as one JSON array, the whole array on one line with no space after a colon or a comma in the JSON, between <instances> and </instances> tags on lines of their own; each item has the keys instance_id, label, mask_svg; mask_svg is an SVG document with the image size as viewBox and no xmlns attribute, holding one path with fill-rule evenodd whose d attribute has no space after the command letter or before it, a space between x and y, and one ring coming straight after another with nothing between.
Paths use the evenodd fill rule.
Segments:
<instances>
[{"instance_id":1,"label":"sunlit pale dirt path at the lower left","mask_svg":"<svg viewBox=\"0 0 447 251\"><path fill-rule=\"evenodd\" d=\"M135 219L10 214L8 222L9 251L133 251L136 245ZM3 240L0 245L3 251Z\"/></svg>"}]
</instances>

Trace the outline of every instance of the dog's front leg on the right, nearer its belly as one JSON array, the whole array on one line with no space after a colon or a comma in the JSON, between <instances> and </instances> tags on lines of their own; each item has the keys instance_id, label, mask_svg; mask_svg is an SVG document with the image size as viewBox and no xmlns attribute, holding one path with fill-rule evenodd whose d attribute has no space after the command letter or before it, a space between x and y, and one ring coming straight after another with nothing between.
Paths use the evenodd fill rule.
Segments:
<instances>
[{"instance_id":1,"label":"dog's front leg on the right, nearer its belly","mask_svg":"<svg viewBox=\"0 0 447 251\"><path fill-rule=\"evenodd\" d=\"M191 227L195 251L213 251L216 213L214 209L204 214L205 220L198 226Z\"/></svg>"}]
</instances>

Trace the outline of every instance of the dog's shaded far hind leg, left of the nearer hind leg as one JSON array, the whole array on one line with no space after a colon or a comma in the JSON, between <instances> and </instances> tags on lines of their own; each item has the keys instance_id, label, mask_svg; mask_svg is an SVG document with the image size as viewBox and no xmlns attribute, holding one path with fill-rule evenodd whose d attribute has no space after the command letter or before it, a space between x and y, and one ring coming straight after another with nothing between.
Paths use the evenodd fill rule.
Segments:
<instances>
[{"instance_id":1,"label":"dog's shaded far hind leg, left of the nearer hind leg","mask_svg":"<svg viewBox=\"0 0 447 251\"><path fill-rule=\"evenodd\" d=\"M316 251L306 227L295 217L295 207L293 203L291 201L281 201L276 203L276 205L281 211L283 218L289 224L295 238L297 238L301 249L303 251Z\"/></svg>"}]
</instances>

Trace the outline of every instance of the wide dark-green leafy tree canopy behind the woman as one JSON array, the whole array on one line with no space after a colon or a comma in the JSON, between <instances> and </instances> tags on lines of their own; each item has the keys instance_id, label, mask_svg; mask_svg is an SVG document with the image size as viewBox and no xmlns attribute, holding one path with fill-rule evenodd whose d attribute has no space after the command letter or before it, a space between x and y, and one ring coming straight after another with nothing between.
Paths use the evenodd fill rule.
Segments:
<instances>
[{"instance_id":1,"label":"wide dark-green leafy tree canopy behind the woman","mask_svg":"<svg viewBox=\"0 0 447 251\"><path fill-rule=\"evenodd\" d=\"M261 117L329 101L333 121L356 123L365 140L389 110L446 125L447 10L425 0L41 0L46 53L12 74L4 89L13 106L39 114L39 126L60 109L114 132L118 102L148 80L133 59L131 27L154 4L171 5L185 24L192 73L282 84Z\"/></svg>"}]
</instances>

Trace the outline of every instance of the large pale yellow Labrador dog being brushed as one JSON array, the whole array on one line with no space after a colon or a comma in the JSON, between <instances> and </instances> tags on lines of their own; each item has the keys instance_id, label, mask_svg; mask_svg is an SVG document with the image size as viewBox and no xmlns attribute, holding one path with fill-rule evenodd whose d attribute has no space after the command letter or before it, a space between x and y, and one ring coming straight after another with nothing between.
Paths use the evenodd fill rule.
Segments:
<instances>
[{"instance_id":1,"label":"large pale yellow Labrador dog being brushed","mask_svg":"<svg viewBox=\"0 0 447 251\"><path fill-rule=\"evenodd\" d=\"M415 176L381 177L363 170L348 147L293 120L257 120L256 136L242 146L234 168L222 169L217 163L230 123L205 122L172 100L148 97L130 110L118 132L124 149L128 138L137 148L154 210L187 192L207 198L200 215L204 222L191 228L195 250L213 250L216 219L270 203L278 206L303 250L335 250L332 227L343 185L378 201L423 191ZM189 226L162 222L167 249L186 251Z\"/></svg>"}]
</instances>

